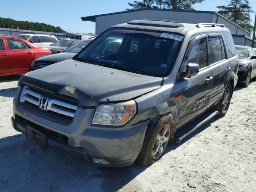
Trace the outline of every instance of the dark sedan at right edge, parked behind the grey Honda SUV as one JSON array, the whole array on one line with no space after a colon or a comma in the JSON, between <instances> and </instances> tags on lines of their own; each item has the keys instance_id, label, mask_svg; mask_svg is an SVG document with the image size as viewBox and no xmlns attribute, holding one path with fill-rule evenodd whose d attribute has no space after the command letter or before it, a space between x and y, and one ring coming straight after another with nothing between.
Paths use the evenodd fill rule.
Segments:
<instances>
[{"instance_id":1,"label":"dark sedan at right edge, parked behind the grey Honda SUV","mask_svg":"<svg viewBox=\"0 0 256 192\"><path fill-rule=\"evenodd\" d=\"M238 83L248 87L250 80L256 76L256 54L251 47L236 45L239 57Z\"/></svg>"}]
</instances>

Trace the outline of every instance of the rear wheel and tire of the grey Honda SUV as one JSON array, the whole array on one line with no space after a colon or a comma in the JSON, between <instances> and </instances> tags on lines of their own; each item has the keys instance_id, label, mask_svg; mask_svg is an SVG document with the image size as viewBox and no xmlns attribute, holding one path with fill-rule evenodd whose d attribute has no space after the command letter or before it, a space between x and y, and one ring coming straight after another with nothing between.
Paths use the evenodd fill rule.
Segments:
<instances>
[{"instance_id":1,"label":"rear wheel and tire of the grey Honda SUV","mask_svg":"<svg viewBox=\"0 0 256 192\"><path fill-rule=\"evenodd\" d=\"M230 83L228 83L220 101L218 102L218 104L216 104L212 108L213 110L218 111L217 116L223 117L228 112L228 107L230 104L232 92L233 92L232 85Z\"/></svg>"}]
</instances>

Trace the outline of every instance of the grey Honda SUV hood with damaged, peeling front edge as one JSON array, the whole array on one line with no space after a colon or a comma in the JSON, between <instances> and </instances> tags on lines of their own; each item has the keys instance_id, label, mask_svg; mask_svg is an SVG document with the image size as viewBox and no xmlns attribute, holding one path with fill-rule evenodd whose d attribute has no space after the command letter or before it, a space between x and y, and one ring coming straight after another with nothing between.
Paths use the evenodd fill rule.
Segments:
<instances>
[{"instance_id":1,"label":"grey Honda SUV hood with damaged, peeling front edge","mask_svg":"<svg viewBox=\"0 0 256 192\"><path fill-rule=\"evenodd\" d=\"M23 75L18 85L28 84L79 100L81 106L125 101L162 86L163 78L65 60Z\"/></svg>"}]
</instances>

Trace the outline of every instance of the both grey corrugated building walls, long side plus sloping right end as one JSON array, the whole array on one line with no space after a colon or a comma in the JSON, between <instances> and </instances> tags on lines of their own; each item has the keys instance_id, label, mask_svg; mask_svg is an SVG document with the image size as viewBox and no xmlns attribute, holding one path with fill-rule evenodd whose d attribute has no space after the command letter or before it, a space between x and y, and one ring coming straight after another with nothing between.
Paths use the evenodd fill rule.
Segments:
<instances>
[{"instance_id":1,"label":"both grey corrugated building walls, long side plus sloping right end","mask_svg":"<svg viewBox=\"0 0 256 192\"><path fill-rule=\"evenodd\" d=\"M96 17L96 35L102 33L104 30L113 25L140 19L170 20L180 23L218 22L220 24L225 24L225 26L230 30L231 34L250 36L249 32L246 32L236 24L214 12L179 12L168 10L141 10L136 12L125 12L120 14L98 16Z\"/></svg>"}]
</instances>

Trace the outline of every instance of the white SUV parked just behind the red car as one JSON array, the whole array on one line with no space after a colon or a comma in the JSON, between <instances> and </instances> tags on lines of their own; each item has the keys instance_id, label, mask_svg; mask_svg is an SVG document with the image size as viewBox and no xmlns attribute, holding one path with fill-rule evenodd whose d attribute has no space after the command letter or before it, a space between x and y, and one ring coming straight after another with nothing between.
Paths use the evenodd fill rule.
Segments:
<instances>
[{"instance_id":1,"label":"white SUV parked just behind the red car","mask_svg":"<svg viewBox=\"0 0 256 192\"><path fill-rule=\"evenodd\" d=\"M54 35L47 35L47 34L20 34L16 37L25 39L29 42L34 43L38 47L48 47L51 44L58 41L58 39Z\"/></svg>"}]
</instances>

